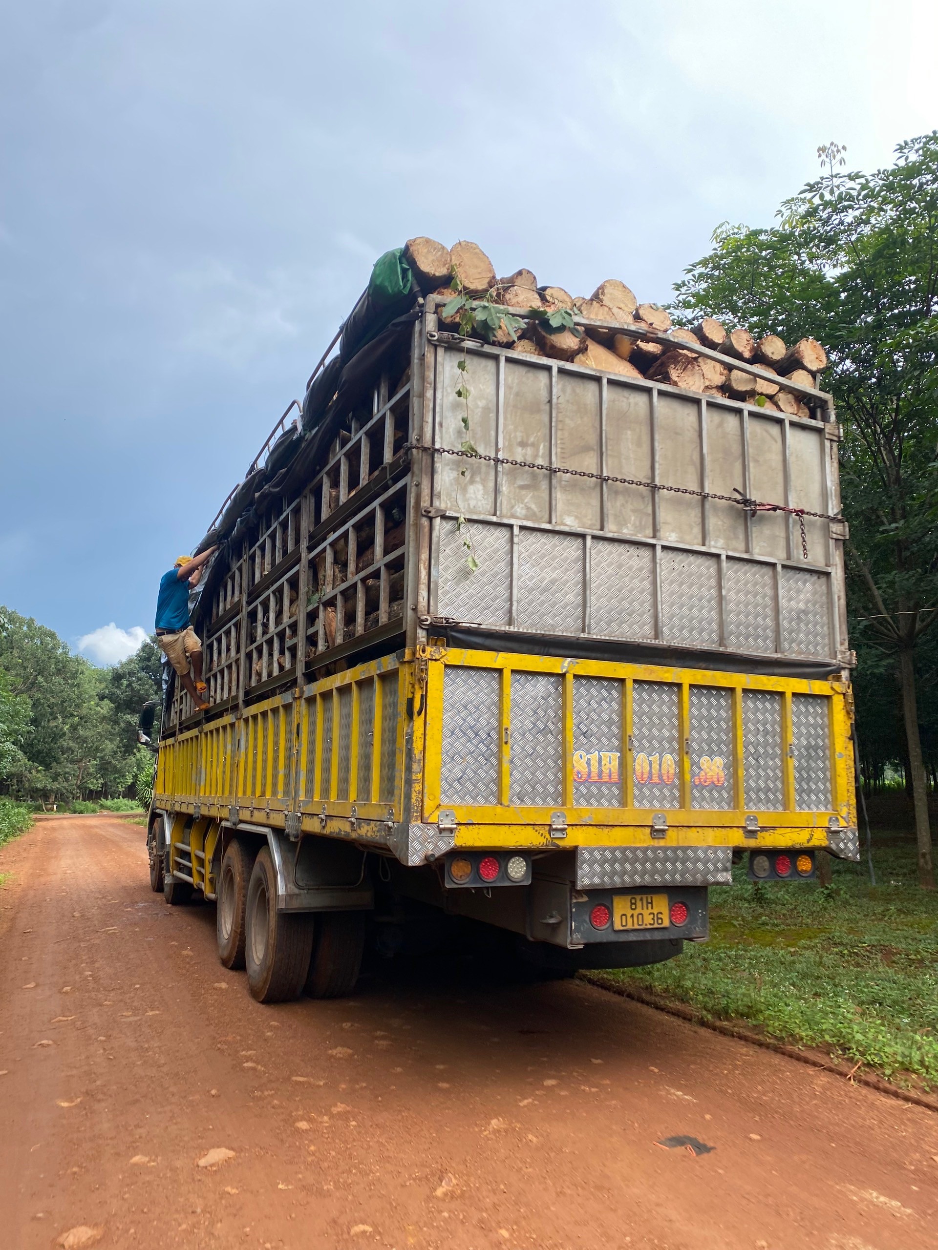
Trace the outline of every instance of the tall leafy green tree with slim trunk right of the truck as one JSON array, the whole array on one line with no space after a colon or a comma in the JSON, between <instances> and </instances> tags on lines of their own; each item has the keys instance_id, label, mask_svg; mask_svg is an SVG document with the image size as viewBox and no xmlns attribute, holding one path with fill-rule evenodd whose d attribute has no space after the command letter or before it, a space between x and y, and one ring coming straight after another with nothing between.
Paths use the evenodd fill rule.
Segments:
<instances>
[{"instance_id":1,"label":"tall leafy green tree with slim trunk right of the truck","mask_svg":"<svg viewBox=\"0 0 938 1250\"><path fill-rule=\"evenodd\" d=\"M779 224L714 232L677 284L675 310L828 346L824 385L844 426L844 515L858 639L890 656L902 692L919 881L934 885L917 661L938 619L938 131L892 166L827 172Z\"/></svg>"}]
</instances>

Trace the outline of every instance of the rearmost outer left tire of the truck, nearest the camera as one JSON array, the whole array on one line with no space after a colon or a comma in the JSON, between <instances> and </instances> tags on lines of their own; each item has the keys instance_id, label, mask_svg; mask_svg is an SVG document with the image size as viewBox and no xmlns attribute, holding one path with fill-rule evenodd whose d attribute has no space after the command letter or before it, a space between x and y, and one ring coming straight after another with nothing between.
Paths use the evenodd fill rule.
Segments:
<instances>
[{"instance_id":1,"label":"rearmost outer left tire of the truck, nearest the camera","mask_svg":"<svg viewBox=\"0 0 938 1250\"><path fill-rule=\"evenodd\" d=\"M313 916L276 910L276 872L265 846L248 885L245 966L248 988L258 1002L286 1002L299 996L313 950Z\"/></svg>"}]
</instances>

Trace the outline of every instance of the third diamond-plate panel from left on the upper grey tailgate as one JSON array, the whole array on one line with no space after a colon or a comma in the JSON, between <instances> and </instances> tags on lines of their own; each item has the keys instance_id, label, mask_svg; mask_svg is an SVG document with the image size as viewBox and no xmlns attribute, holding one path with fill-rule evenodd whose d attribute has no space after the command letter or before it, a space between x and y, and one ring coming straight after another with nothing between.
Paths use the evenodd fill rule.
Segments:
<instances>
[{"instance_id":1,"label":"third diamond-plate panel from left on the upper grey tailgate","mask_svg":"<svg viewBox=\"0 0 938 1250\"><path fill-rule=\"evenodd\" d=\"M594 539L589 595L590 634L654 638L654 548Z\"/></svg>"}]
</instances>

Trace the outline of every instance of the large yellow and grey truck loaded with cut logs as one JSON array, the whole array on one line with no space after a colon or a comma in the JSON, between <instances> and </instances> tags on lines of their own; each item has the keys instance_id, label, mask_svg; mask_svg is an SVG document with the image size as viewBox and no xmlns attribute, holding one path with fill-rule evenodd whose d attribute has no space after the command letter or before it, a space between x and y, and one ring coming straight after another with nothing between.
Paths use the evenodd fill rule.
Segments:
<instances>
[{"instance_id":1,"label":"large yellow and grey truck loaded with cut logs","mask_svg":"<svg viewBox=\"0 0 938 1250\"><path fill-rule=\"evenodd\" d=\"M857 858L824 362L474 244L378 261L200 544L211 706L161 720L151 884L256 999L433 916L652 964L734 861Z\"/></svg>"}]
</instances>

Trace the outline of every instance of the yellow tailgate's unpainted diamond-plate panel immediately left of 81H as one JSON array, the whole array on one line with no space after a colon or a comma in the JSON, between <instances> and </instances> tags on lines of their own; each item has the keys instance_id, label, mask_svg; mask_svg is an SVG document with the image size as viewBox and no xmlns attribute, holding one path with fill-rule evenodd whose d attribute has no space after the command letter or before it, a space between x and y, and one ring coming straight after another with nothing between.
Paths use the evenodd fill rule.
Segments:
<instances>
[{"instance_id":1,"label":"yellow tailgate's unpainted diamond-plate panel immediately left of 81H","mask_svg":"<svg viewBox=\"0 0 938 1250\"><path fill-rule=\"evenodd\" d=\"M563 678L512 674L510 801L524 806L563 801Z\"/></svg>"}]
</instances>

